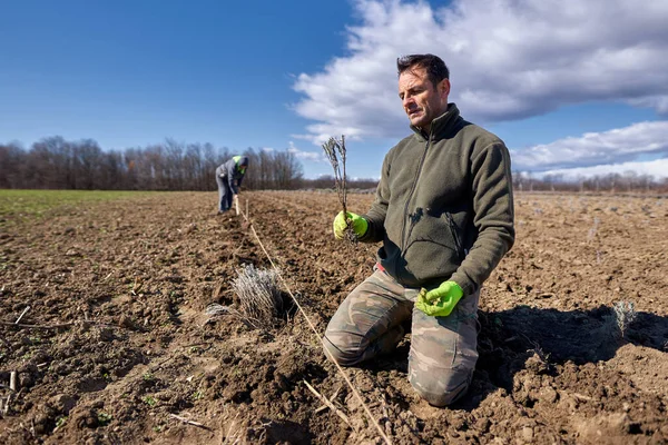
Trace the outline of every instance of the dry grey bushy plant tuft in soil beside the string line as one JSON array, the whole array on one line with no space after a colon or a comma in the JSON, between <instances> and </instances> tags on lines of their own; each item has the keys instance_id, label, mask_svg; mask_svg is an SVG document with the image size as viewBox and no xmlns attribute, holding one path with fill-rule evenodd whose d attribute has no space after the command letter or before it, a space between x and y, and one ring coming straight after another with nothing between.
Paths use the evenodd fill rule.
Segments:
<instances>
[{"instance_id":1,"label":"dry grey bushy plant tuft in soil beside the string line","mask_svg":"<svg viewBox=\"0 0 668 445\"><path fill-rule=\"evenodd\" d=\"M273 325L283 312L277 273L245 265L237 274L238 277L233 280L232 286L239 299L242 316L256 328Z\"/></svg>"}]
</instances>

